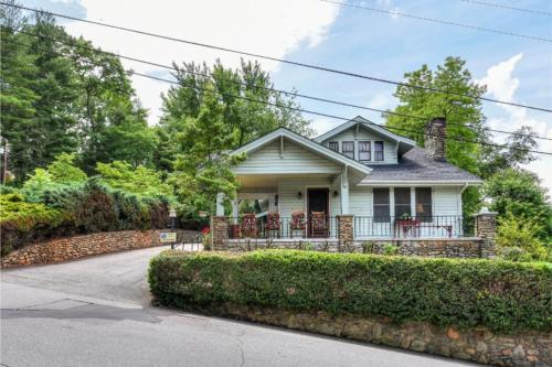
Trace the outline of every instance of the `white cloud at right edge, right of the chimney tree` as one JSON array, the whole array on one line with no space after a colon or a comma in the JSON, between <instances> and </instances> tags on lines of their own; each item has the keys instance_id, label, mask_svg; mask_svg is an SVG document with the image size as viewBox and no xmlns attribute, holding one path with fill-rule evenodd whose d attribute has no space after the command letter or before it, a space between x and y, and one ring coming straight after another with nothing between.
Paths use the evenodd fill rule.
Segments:
<instances>
[{"instance_id":1,"label":"white cloud at right edge, right of the chimney tree","mask_svg":"<svg viewBox=\"0 0 552 367\"><path fill-rule=\"evenodd\" d=\"M507 61L500 62L488 68L487 75L479 80L480 84L487 85L488 93L497 99L516 101L514 94L520 86L520 79L513 76L516 65L523 57L523 54L517 54ZM506 112L500 117L492 117L488 120L491 129L502 129L507 131L516 130L522 126L528 126L541 137L552 138L552 123L550 120L534 117L530 115L528 109L499 105ZM503 134L497 134L498 139L506 139ZM552 141L538 140L538 150L552 152ZM543 181L544 186L552 193L552 160L550 155L537 155L539 159L530 164L527 169L535 172Z\"/></svg>"}]
</instances>

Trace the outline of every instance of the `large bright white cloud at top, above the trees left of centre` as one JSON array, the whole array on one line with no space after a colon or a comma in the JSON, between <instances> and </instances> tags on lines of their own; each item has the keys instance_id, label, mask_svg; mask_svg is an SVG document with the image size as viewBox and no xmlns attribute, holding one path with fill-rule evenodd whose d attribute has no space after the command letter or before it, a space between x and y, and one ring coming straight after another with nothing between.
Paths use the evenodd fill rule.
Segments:
<instances>
[{"instance_id":1,"label":"large bright white cloud at top, above the trees left of centre","mask_svg":"<svg viewBox=\"0 0 552 367\"><path fill-rule=\"evenodd\" d=\"M325 40L339 13L339 7L321 7L317 0L283 1L113 1L83 0L87 19L139 29L173 37L220 45L230 48L284 58L301 47L315 47ZM240 55L108 28L68 22L67 31L83 35L106 51L137 58L169 64L206 62L221 58L224 65L236 67ZM259 60L267 71L277 62ZM123 61L125 67L140 73L159 72L136 62ZM150 109L150 123L157 122L167 84L132 77L142 105Z\"/></svg>"}]
</instances>

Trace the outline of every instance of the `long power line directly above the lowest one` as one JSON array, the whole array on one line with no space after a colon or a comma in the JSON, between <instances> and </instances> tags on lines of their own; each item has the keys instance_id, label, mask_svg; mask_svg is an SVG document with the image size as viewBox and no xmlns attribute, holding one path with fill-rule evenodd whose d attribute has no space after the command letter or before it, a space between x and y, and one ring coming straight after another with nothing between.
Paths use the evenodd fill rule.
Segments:
<instances>
[{"instance_id":1,"label":"long power line directly above the lowest one","mask_svg":"<svg viewBox=\"0 0 552 367\"><path fill-rule=\"evenodd\" d=\"M147 64L147 65L151 65L151 66L156 66L156 67L162 67L162 68L170 69L170 71L183 72L183 73L187 73L187 74L198 75L198 76L202 76L202 77L209 77L209 78L212 78L213 80L215 80L215 78L213 77L212 74L210 75L210 74L203 74L203 73L198 73L198 72L191 72L191 71L187 71L187 69L181 69L181 68L178 68L178 67L174 67L174 66L169 66L169 65L164 65L164 64L153 63L153 62L145 61L145 60L141 60L141 58L125 56L125 55L116 54L116 53L113 53L113 52L103 51L103 50L98 50L98 48L94 48L94 47L89 47L89 46L85 46L85 45L81 45L81 44L75 44L73 42L61 41L61 40L56 40L56 39L53 39L53 37L40 35L40 34L35 34L35 33L31 33L31 32L25 32L25 31L19 31L19 32L23 33L23 34L26 34L26 35L31 35L31 36L38 37L38 39L44 39L44 40L50 40L50 41L53 41L53 42L59 42L59 43L62 43L64 45L70 45L72 47L84 48L84 50L92 51L92 52L95 52L95 53L102 53L102 54L105 54L105 55L120 57L120 58L124 58L124 60L129 60L129 61L132 61L132 62L142 63L142 64ZM238 80L232 80L232 79L223 79L223 80L224 82L230 82L230 83L233 83L233 84L238 84L238 85L247 86L246 83L238 82ZM269 90L269 91L276 91L276 93L280 93L280 94L287 95L287 96L297 96L297 97L305 98L305 99L317 100L317 101L322 101L322 102L328 102L328 104L333 104L333 105L339 105L339 106L344 106L344 107L352 107L352 108L358 108L358 109L363 109L363 110L369 110L369 111L381 112L381 114L385 114L385 115L394 115L394 116L399 116L399 117L420 119L420 120L424 120L424 121L426 121L428 119L427 117L421 117L421 116L414 116L414 115L407 115L407 114L400 114L400 112L394 112L394 111L389 111L389 110L382 110L382 109L378 109L378 108L371 108L371 107L365 107L365 106L360 106L360 105L354 105L354 104L349 104L349 102L343 102L343 101L337 101L337 100L321 98L321 97L308 96L308 95L299 94L299 93L296 93L296 91L289 91L289 90L283 90L283 89L276 89L276 88L268 88L268 87L263 87L263 86L254 86L254 88L263 89L263 90ZM448 125L449 126L457 126L457 127L471 127L471 128L476 128L474 126L469 126L469 125L467 126L467 125L460 125L460 123L448 123ZM518 133L516 133L513 131L496 130L496 129L489 129L489 128L485 128L485 129L486 129L486 131L491 131L491 132L499 132L499 133L511 134L511 136L517 136L518 134ZM523 136L527 136L527 134L523 134ZM531 134L530 137L534 138L534 139L551 140L552 141L552 138L540 137L540 136L537 136L537 134Z\"/></svg>"}]
</instances>

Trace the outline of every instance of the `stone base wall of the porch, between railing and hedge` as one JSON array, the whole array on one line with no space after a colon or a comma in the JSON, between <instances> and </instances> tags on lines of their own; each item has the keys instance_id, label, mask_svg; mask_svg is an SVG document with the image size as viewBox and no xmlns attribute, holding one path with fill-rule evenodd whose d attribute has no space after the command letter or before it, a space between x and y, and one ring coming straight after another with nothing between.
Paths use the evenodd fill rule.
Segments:
<instances>
[{"instance_id":1,"label":"stone base wall of the porch, between railing and hedge","mask_svg":"<svg viewBox=\"0 0 552 367\"><path fill-rule=\"evenodd\" d=\"M396 253L406 256L442 257L442 258L481 258L484 240L480 238L445 238L445 239L401 239L401 240L353 240L338 239L230 239L223 248L227 251L252 251L257 249L278 248L317 250L328 252L363 252L384 253L386 248L396 246Z\"/></svg>"}]
</instances>

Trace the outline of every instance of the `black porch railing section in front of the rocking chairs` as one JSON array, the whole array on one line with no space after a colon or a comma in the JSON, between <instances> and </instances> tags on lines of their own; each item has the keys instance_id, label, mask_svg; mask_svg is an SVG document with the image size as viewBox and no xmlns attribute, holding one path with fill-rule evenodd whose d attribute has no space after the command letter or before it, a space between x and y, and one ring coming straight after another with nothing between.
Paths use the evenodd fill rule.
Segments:
<instances>
[{"instance_id":1,"label":"black porch railing section in front of the rocking chairs","mask_svg":"<svg viewBox=\"0 0 552 367\"><path fill-rule=\"evenodd\" d=\"M307 217L297 223L291 217L280 217L278 223L267 223L262 216L251 220L244 217L230 217L229 238L337 238L338 223L336 217Z\"/></svg>"}]
</instances>

